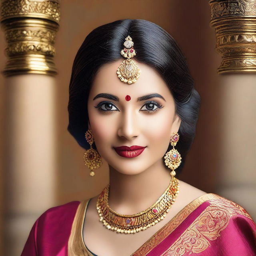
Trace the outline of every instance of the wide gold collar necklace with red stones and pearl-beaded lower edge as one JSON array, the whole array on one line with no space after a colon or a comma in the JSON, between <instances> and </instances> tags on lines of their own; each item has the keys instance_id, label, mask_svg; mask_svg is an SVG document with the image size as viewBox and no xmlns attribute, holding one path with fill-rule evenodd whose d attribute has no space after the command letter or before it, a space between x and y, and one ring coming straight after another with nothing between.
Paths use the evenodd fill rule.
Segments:
<instances>
[{"instance_id":1,"label":"wide gold collar necklace with red stones and pearl-beaded lower edge","mask_svg":"<svg viewBox=\"0 0 256 256\"><path fill-rule=\"evenodd\" d=\"M100 221L107 229L117 233L135 234L154 226L166 217L179 192L179 180L172 176L169 186L152 206L132 215L119 214L111 209L108 205L108 192L109 184L97 200L96 208Z\"/></svg>"}]
</instances>

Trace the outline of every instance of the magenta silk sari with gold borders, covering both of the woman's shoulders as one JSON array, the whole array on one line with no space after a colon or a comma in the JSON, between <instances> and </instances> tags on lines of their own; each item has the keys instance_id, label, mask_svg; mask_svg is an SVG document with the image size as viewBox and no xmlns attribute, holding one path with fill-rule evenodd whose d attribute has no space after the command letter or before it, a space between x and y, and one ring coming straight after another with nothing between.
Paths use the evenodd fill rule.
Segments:
<instances>
[{"instance_id":1,"label":"magenta silk sari with gold borders, covering both of the woman's shoulders","mask_svg":"<svg viewBox=\"0 0 256 256\"><path fill-rule=\"evenodd\" d=\"M89 200L44 212L32 227L21 255L95 256L82 237ZM131 256L144 255L256 256L256 224L240 205L206 194L184 207Z\"/></svg>"}]
</instances>

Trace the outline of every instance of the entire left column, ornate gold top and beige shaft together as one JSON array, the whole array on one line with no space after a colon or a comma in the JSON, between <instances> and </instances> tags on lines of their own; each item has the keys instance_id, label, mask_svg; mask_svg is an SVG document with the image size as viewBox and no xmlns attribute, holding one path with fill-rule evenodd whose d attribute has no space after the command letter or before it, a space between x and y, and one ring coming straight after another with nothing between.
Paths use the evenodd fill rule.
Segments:
<instances>
[{"instance_id":1,"label":"entire left column, ornate gold top and beige shaft together","mask_svg":"<svg viewBox=\"0 0 256 256\"><path fill-rule=\"evenodd\" d=\"M56 205L55 38L58 0L2 0L6 37L5 255L20 255L32 224Z\"/></svg>"}]
</instances>

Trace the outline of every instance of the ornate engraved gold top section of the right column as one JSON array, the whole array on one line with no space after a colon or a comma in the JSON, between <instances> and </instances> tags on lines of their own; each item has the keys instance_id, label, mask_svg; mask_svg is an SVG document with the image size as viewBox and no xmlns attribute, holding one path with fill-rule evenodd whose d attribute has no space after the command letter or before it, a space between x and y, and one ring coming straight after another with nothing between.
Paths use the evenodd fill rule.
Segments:
<instances>
[{"instance_id":1,"label":"ornate engraved gold top section of the right column","mask_svg":"<svg viewBox=\"0 0 256 256\"><path fill-rule=\"evenodd\" d=\"M209 4L216 51L223 58L218 73L256 72L256 1L211 0Z\"/></svg>"}]
</instances>

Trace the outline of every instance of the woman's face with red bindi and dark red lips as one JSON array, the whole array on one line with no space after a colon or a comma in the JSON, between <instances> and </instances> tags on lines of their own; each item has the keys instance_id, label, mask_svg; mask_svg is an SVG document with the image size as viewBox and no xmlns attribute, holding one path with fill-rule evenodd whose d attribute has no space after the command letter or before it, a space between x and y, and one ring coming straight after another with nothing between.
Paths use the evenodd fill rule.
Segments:
<instances>
[{"instance_id":1,"label":"woman's face with red bindi and dark red lips","mask_svg":"<svg viewBox=\"0 0 256 256\"><path fill-rule=\"evenodd\" d=\"M122 174L138 174L156 162L163 163L180 118L175 115L174 99L158 72L136 61L140 78L128 85L116 74L121 61L104 64L94 78L88 98L88 128L100 156L112 168ZM145 148L115 149L121 146Z\"/></svg>"}]
</instances>

